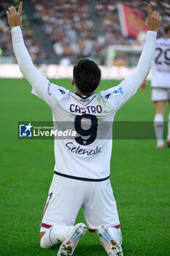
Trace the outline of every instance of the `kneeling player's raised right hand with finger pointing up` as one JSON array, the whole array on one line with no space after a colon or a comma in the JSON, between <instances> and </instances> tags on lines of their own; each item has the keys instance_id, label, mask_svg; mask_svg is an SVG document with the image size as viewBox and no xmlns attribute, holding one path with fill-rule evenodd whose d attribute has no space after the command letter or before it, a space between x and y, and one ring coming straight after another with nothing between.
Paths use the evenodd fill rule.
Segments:
<instances>
[{"instance_id":1,"label":"kneeling player's raised right hand with finger pointing up","mask_svg":"<svg viewBox=\"0 0 170 256\"><path fill-rule=\"evenodd\" d=\"M151 9L151 5L147 6L148 13L148 21L147 21L147 29L158 32L158 29L161 25L161 15L158 12L153 11Z\"/></svg>"}]
</instances>

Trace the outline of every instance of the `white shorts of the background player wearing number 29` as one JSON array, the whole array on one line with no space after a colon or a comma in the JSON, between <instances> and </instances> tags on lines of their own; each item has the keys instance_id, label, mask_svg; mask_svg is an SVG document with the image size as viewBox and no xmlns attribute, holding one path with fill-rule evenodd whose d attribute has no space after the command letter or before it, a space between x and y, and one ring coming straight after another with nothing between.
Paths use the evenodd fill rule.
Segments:
<instances>
[{"instance_id":1,"label":"white shorts of the background player wearing number 29","mask_svg":"<svg viewBox=\"0 0 170 256\"><path fill-rule=\"evenodd\" d=\"M152 89L152 102L170 101L170 89Z\"/></svg>"}]
</instances>

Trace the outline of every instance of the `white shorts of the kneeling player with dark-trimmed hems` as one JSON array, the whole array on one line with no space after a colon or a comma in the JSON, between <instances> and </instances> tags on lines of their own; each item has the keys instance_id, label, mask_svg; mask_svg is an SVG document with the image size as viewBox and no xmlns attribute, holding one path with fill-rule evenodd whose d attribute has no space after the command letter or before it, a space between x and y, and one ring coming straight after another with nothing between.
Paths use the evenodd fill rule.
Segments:
<instances>
[{"instance_id":1,"label":"white shorts of the kneeling player with dark-trimmed hems","mask_svg":"<svg viewBox=\"0 0 170 256\"><path fill-rule=\"evenodd\" d=\"M81 207L92 232L98 225L120 226L109 179L92 182L54 175L40 231L53 225L73 226Z\"/></svg>"}]
</instances>

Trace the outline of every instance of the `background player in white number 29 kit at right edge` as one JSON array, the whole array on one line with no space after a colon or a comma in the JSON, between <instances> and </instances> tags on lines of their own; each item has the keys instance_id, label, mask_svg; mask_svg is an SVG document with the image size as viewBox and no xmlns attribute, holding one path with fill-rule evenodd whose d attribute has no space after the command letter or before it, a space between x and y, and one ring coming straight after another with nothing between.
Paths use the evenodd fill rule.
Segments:
<instances>
[{"instance_id":1,"label":"background player in white number 29 kit at right edge","mask_svg":"<svg viewBox=\"0 0 170 256\"><path fill-rule=\"evenodd\" d=\"M163 116L166 102L170 108L170 26L165 28L165 37L156 40L155 57L152 62L152 102L155 103L154 128L157 148L163 148ZM146 82L142 83L142 91ZM167 145L170 147L170 113Z\"/></svg>"}]
</instances>

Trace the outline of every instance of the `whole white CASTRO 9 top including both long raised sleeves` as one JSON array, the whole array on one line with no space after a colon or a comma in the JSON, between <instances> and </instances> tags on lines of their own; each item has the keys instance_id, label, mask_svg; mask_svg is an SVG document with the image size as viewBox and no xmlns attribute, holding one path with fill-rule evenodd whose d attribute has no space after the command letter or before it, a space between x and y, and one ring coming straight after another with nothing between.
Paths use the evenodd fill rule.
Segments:
<instances>
[{"instance_id":1,"label":"whole white CASTRO 9 top including both long raised sleeves","mask_svg":"<svg viewBox=\"0 0 170 256\"><path fill-rule=\"evenodd\" d=\"M59 126L64 124L61 127L64 130L67 124L69 128L71 124L71 128L77 132L74 138L55 138L55 173L95 181L108 178L115 113L136 93L149 73L157 33L147 31L139 63L120 85L83 98L50 83L34 67L20 26L15 26L11 32L15 56L21 72L33 88L32 93L50 105L54 126L56 123ZM84 124L88 124L88 127L84 127Z\"/></svg>"}]
</instances>

